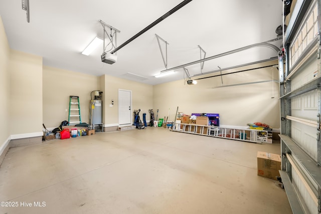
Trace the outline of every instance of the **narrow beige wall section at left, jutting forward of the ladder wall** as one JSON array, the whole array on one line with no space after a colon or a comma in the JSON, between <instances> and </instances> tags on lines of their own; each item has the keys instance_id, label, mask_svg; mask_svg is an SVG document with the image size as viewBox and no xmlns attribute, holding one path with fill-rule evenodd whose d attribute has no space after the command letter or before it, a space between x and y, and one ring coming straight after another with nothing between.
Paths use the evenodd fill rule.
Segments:
<instances>
[{"instance_id":1,"label":"narrow beige wall section at left, jutting forward of the ladder wall","mask_svg":"<svg viewBox=\"0 0 321 214\"><path fill-rule=\"evenodd\" d=\"M11 50L11 134L42 132L42 57Z\"/></svg>"}]
</instances>

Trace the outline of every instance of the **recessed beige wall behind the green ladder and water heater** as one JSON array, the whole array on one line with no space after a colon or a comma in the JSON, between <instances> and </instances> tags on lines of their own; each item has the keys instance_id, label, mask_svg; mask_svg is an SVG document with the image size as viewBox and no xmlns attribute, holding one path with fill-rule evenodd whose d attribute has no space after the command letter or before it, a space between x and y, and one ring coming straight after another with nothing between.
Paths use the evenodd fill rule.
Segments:
<instances>
[{"instance_id":1,"label":"recessed beige wall behind the green ladder and water heater","mask_svg":"<svg viewBox=\"0 0 321 214\"><path fill-rule=\"evenodd\" d=\"M90 93L100 89L99 77L44 66L42 81L43 121L47 128L58 127L68 120L70 95L79 96L82 122L90 124Z\"/></svg>"}]
</instances>

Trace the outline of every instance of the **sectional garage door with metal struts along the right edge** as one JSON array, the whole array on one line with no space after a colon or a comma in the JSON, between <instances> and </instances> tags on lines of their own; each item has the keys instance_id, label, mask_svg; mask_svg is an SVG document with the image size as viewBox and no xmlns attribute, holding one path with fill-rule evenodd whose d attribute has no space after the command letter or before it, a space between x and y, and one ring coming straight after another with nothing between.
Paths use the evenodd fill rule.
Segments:
<instances>
[{"instance_id":1,"label":"sectional garage door with metal struts along the right edge","mask_svg":"<svg viewBox=\"0 0 321 214\"><path fill-rule=\"evenodd\" d=\"M320 1L296 1L291 10L280 82L280 174L293 213L320 213Z\"/></svg>"}]
</instances>

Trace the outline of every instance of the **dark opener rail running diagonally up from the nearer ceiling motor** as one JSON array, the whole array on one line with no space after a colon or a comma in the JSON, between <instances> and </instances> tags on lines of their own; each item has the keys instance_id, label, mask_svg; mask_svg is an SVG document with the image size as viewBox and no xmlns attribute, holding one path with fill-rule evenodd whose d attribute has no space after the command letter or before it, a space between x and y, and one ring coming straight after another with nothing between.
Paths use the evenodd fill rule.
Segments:
<instances>
[{"instance_id":1,"label":"dark opener rail running diagonally up from the nearer ceiling motor","mask_svg":"<svg viewBox=\"0 0 321 214\"><path fill-rule=\"evenodd\" d=\"M134 35L133 37L131 37L129 40L127 40L126 42L124 42L123 44L121 44L118 48L116 48L115 50L113 50L112 52L110 52L111 54L116 53L117 51L119 51L121 48L123 48L124 46L126 46L128 43L132 42L134 39L136 39L137 37L139 37L140 35L142 35L143 33L145 33L146 31L148 31L149 29L151 29L152 27L154 27L155 25L157 25L158 23L162 22L163 20L165 20L166 18L168 18L169 16L171 16L172 14L174 14L175 12L177 12L178 10L180 10L181 8L183 8L185 5L187 5L188 3L192 2L192 0L185 0L183 2L181 2L179 5L177 5L175 8L173 8L172 10L170 10L169 12L167 12L166 14L164 14L162 17L158 18L156 21L154 21L153 23L151 23L150 25L148 25L146 28L144 28L143 30L141 30L139 33L137 33L136 35Z\"/></svg>"}]
</instances>

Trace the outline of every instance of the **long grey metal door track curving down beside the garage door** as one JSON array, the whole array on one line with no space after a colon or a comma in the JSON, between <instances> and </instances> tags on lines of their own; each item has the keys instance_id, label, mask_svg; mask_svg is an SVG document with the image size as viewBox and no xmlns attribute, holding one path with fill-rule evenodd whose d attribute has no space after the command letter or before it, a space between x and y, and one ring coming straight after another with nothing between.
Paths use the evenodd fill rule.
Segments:
<instances>
[{"instance_id":1,"label":"long grey metal door track curving down beside the garage door","mask_svg":"<svg viewBox=\"0 0 321 214\"><path fill-rule=\"evenodd\" d=\"M165 72L177 70L177 69L180 69L180 68L183 68L183 67L188 67L188 66L191 66L191 65L194 65L194 64L197 64L197 63L202 63L202 62L205 62L205 61L208 61L208 60L213 60L213 59L216 59L216 58L219 58L219 57L224 57L224 56L227 56L227 55L230 55L230 54L234 54L234 53L238 53L238 52L241 52L241 51L245 51L245 50L248 50L248 49L251 49L251 48L256 48L256 47L270 48L273 51L275 51L275 53L277 55L280 52L280 49L278 47L276 47L275 45L268 44L268 43L265 43L265 42L264 43L257 43L257 44L245 46L245 47L242 47L242 48L238 48L238 49L235 49L233 51L228 51L228 52L225 52L225 53L222 53L222 54L218 54L218 55L215 55L215 56L212 56L212 57L208 57L208 58L197 60L197 61L194 61L194 62L191 62L191 63L187 63L187 64L184 64L184 65L176 66L176 67L161 71L161 74L165 73Z\"/></svg>"}]
</instances>

